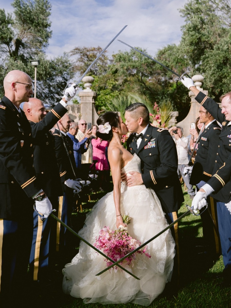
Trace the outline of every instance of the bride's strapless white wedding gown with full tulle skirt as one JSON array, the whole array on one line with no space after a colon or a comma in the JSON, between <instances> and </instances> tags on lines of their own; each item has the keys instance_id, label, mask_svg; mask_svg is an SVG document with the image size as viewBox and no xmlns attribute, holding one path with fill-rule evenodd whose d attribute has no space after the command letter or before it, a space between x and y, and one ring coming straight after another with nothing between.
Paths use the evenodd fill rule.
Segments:
<instances>
[{"instance_id":1,"label":"bride's strapless white wedding gown with full tulle skirt","mask_svg":"<svg viewBox=\"0 0 231 308\"><path fill-rule=\"evenodd\" d=\"M140 158L136 155L122 169L127 174L140 171ZM121 213L131 217L128 233L144 243L164 229L168 223L161 209L160 201L154 191L143 185L121 187ZM113 192L100 199L87 215L85 225L79 231L84 239L92 245L104 226L116 229L116 213ZM133 278L120 268L111 269L95 276L105 269L105 258L84 242L80 243L79 253L63 269L63 291L85 303L102 304L132 302L148 306L164 290L170 281L175 255L175 242L170 230L165 231L147 245L151 258L137 254L131 271L140 280Z\"/></svg>"}]
</instances>

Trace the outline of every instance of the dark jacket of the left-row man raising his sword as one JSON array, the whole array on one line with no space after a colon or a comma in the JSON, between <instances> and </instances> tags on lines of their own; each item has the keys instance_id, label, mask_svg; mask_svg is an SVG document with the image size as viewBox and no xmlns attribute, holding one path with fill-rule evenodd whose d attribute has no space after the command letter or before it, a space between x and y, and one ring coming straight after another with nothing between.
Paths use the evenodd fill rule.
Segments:
<instances>
[{"instance_id":1,"label":"dark jacket of the left-row man raising his sword","mask_svg":"<svg viewBox=\"0 0 231 308\"><path fill-rule=\"evenodd\" d=\"M43 191L49 197L63 195L58 163L55 156L55 137L49 130L66 112L67 109L61 103L58 103L40 122L34 123L30 121L36 178Z\"/></svg>"}]
</instances>

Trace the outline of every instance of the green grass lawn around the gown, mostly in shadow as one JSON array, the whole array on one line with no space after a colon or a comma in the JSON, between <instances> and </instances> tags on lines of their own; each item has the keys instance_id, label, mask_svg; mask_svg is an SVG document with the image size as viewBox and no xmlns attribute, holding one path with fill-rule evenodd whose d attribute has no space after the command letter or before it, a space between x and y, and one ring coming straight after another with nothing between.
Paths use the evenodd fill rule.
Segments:
<instances>
[{"instance_id":1,"label":"green grass lawn around the gown, mostly in shadow","mask_svg":"<svg viewBox=\"0 0 231 308\"><path fill-rule=\"evenodd\" d=\"M105 193L98 192L91 194L91 201L83 204L83 212L91 209L95 202L103 197ZM182 204L178 216L187 211L185 205L191 205L191 200L184 192L184 204ZM83 225L84 213L73 213L71 227L78 229ZM78 221L78 223L77 223ZM77 226L77 225L78 226ZM75 245L78 246L78 240L75 239ZM188 214L179 222L179 246L180 246L180 286L178 292L171 298L164 294L156 298L149 307L152 308L231 308L231 290L222 288L220 283L222 278L216 276L224 268L222 257L217 256L215 260L210 257L199 256L200 248L196 246L203 245L203 234L201 218ZM77 251L77 250L76 250ZM111 304L103 306L102 304L83 304L82 299L72 298L62 292L62 273L57 271L53 280L55 286L51 291L39 297L37 302L42 308L103 308L117 307L130 308L141 307L136 304ZM31 307L35 307L34 304Z\"/></svg>"}]
</instances>

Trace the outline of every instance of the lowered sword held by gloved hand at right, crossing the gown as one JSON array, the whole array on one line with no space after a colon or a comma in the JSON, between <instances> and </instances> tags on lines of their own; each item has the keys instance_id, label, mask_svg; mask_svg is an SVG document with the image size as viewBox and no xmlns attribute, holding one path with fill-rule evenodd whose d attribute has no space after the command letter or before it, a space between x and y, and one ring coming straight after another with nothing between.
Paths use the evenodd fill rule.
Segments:
<instances>
[{"instance_id":1,"label":"lowered sword held by gloved hand at right, crossing the gown","mask_svg":"<svg viewBox=\"0 0 231 308\"><path fill-rule=\"evenodd\" d=\"M150 243L151 241L155 240L157 237L159 237L162 233L164 233L165 231L167 231L169 228L171 228L173 225L176 224L176 222L180 221L184 216L188 215L189 213L196 215L196 216L200 216L208 207L208 204L206 205L206 208L201 212L197 214L197 211L194 211L193 207L190 207L189 205L185 205L188 209L187 212L185 212L183 215L181 215L179 218L177 218L175 221L173 221L170 225L168 225L166 228L164 228L162 231L160 231L159 233L157 233L154 237L150 238L150 240L146 241L144 244L140 245L139 247L137 247L136 249L132 250L130 253L127 253L124 257L120 258L118 261L114 262L113 264L109 265L108 267L106 267L104 270L102 270L101 272L99 272L98 274L96 274L95 276L99 276L101 274L103 274L104 272L106 272L106 270L109 270L111 267L113 266L117 266L119 265L120 262L122 262L125 258L131 256L133 253L135 253L136 251L140 250L141 248L143 248L144 246L146 246L148 243Z\"/></svg>"}]
</instances>

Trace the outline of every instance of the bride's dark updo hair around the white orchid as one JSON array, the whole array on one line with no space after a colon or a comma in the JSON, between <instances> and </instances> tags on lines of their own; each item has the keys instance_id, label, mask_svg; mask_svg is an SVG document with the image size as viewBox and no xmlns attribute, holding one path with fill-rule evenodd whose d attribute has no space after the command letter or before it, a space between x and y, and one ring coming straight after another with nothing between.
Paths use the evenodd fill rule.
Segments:
<instances>
[{"instance_id":1,"label":"bride's dark updo hair around the white orchid","mask_svg":"<svg viewBox=\"0 0 231 308\"><path fill-rule=\"evenodd\" d=\"M118 127L120 128L120 118L117 112L114 111L107 111L103 113L102 115L99 116L97 119L97 124L99 125L105 125L105 123L109 122L109 125L111 126L111 129L109 130L108 133L102 133L99 132L99 127L97 128L96 131L96 136L99 137L100 139L106 140L106 141L111 141L112 139L112 127Z\"/></svg>"}]
</instances>

